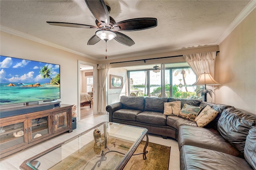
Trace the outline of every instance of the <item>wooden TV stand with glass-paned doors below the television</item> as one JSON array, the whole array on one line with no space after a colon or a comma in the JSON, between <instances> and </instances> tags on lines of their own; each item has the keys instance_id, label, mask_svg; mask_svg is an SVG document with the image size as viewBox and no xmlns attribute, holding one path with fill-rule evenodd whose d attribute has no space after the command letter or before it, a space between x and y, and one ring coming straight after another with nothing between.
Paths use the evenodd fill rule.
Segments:
<instances>
[{"instance_id":1,"label":"wooden TV stand with glass-paned doors below the television","mask_svg":"<svg viewBox=\"0 0 256 170\"><path fill-rule=\"evenodd\" d=\"M0 118L0 157L64 132L72 132L72 105Z\"/></svg>"}]
</instances>

